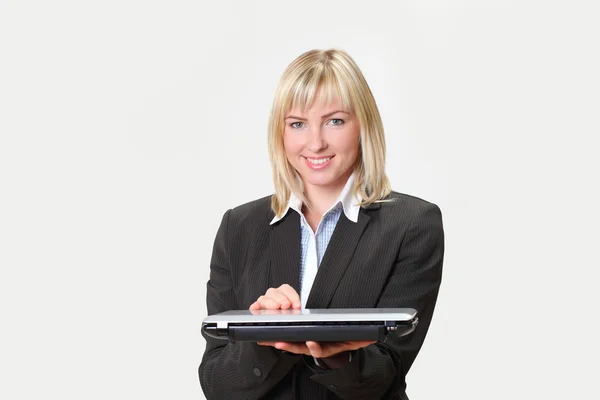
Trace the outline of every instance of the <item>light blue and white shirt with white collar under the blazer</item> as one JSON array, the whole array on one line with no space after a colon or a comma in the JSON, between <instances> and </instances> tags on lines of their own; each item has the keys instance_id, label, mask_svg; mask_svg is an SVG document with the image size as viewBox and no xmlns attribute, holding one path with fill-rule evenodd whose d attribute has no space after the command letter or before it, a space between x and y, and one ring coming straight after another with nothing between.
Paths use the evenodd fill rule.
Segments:
<instances>
[{"instance_id":1,"label":"light blue and white shirt with white collar under the blazer","mask_svg":"<svg viewBox=\"0 0 600 400\"><path fill-rule=\"evenodd\" d=\"M317 226L316 233L313 232L312 228L306 221L304 214L302 214L302 201L292 193L288 201L288 205L282 217L273 218L271 225L277 221L283 219L290 209L300 214L300 231L301 231L301 242L300 242L300 301L302 302L302 308L306 307L306 301L312 288L313 282L317 275L317 270L329 244L329 240L333 235L335 226L342 214L342 211L350 221L356 223L358 221L358 214L360 211L360 200L353 193L352 187L354 183L354 174L348 178L346 185L340 192L337 200L327 210L319 225Z\"/></svg>"}]
</instances>

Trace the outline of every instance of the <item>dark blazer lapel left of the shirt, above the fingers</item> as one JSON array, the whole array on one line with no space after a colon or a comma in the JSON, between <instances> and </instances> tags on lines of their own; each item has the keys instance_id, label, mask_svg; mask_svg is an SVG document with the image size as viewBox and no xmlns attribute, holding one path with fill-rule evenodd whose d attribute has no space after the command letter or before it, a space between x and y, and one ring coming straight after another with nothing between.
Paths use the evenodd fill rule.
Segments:
<instances>
[{"instance_id":1,"label":"dark blazer lapel left of the shirt, above the fingers","mask_svg":"<svg viewBox=\"0 0 600 400\"><path fill-rule=\"evenodd\" d=\"M300 293L300 215L288 211L288 215L271 227L270 236L270 287L287 283Z\"/></svg>"}]
</instances>

